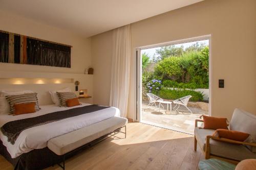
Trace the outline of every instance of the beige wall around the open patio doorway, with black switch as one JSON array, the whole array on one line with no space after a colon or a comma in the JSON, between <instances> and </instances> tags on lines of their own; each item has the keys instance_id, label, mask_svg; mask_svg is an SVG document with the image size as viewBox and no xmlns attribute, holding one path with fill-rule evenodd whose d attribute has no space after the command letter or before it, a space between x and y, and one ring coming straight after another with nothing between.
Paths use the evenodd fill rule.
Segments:
<instances>
[{"instance_id":1,"label":"beige wall around the open patio doorway, with black switch","mask_svg":"<svg viewBox=\"0 0 256 170\"><path fill-rule=\"evenodd\" d=\"M256 114L256 1L206 0L132 23L132 50L136 47L211 35L212 57L212 115L231 118L234 108ZM112 43L110 32L92 37L93 66L97 84L94 95L108 95L102 103L109 103L110 66ZM97 51L97 53L95 53ZM134 54L134 53L133 53ZM131 98L129 118L136 112L136 64L132 56ZM94 62L95 61L95 62ZM104 74L103 74L104 72ZM218 87L218 79L225 80L225 88ZM102 81L101 81L102 80ZM101 88L99 90L99 88ZM99 93L98 93L99 92ZM95 99L96 101L98 99Z\"/></svg>"}]
</instances>

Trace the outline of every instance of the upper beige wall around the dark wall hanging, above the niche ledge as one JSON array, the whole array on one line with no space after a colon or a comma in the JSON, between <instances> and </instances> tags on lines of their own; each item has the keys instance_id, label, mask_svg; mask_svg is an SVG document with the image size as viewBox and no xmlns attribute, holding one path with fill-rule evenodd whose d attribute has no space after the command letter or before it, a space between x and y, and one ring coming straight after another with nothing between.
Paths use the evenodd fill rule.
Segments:
<instances>
[{"instance_id":1,"label":"upper beige wall around the dark wall hanging, above the niche ledge","mask_svg":"<svg viewBox=\"0 0 256 170\"><path fill-rule=\"evenodd\" d=\"M0 30L72 45L71 68L0 63L0 70L83 73L91 65L91 38L0 10Z\"/></svg>"}]
</instances>

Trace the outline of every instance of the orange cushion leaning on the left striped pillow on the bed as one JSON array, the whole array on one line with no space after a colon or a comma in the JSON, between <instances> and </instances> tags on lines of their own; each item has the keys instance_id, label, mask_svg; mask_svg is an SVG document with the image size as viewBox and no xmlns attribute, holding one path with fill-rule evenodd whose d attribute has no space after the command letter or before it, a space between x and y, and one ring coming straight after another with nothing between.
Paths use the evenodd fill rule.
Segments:
<instances>
[{"instance_id":1,"label":"orange cushion leaning on the left striped pillow on the bed","mask_svg":"<svg viewBox=\"0 0 256 170\"><path fill-rule=\"evenodd\" d=\"M13 105L14 114L26 114L26 113L34 113L35 112L35 103L20 103Z\"/></svg>"}]
</instances>

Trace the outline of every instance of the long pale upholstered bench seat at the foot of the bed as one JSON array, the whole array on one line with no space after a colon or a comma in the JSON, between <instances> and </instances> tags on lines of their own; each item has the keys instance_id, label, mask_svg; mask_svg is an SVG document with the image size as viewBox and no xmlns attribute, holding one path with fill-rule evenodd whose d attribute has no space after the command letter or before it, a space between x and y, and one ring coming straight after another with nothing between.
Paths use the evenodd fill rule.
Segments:
<instances>
[{"instance_id":1,"label":"long pale upholstered bench seat at the foot of the bed","mask_svg":"<svg viewBox=\"0 0 256 170\"><path fill-rule=\"evenodd\" d=\"M54 137L48 141L48 148L57 155L64 155L101 136L126 125L127 119L111 117L99 123Z\"/></svg>"}]
</instances>

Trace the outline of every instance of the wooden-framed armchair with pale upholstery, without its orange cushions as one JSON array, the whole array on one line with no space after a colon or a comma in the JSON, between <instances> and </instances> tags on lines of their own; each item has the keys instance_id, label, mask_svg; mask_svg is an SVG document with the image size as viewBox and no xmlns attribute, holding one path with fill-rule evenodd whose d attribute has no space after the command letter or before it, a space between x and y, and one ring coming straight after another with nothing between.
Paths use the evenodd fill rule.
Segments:
<instances>
[{"instance_id":1,"label":"wooden-framed armchair with pale upholstery, without its orange cushions","mask_svg":"<svg viewBox=\"0 0 256 170\"><path fill-rule=\"evenodd\" d=\"M234 164L244 159L256 159L255 141L246 140L241 142L218 138L212 136L215 130L202 129L198 127L198 122L203 122L203 120L196 120L195 122L195 151L197 151L197 144L199 144L205 154L205 159L217 158ZM229 124L229 129L248 133L250 134L248 138L255 138L256 115L235 109Z\"/></svg>"}]
</instances>

